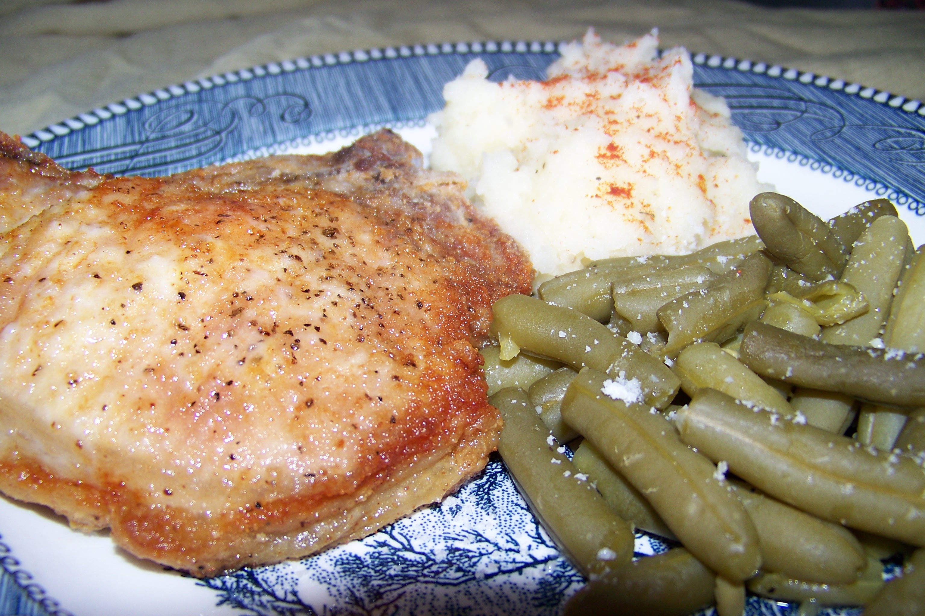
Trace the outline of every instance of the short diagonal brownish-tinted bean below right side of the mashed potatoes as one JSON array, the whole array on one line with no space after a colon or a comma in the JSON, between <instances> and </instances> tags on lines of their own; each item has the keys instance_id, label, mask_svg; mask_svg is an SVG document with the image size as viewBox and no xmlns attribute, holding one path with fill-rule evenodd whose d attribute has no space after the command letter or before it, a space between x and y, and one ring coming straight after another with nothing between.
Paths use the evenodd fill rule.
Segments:
<instances>
[{"instance_id":1,"label":"short diagonal brownish-tinted bean below right side of the mashed potatoes","mask_svg":"<svg viewBox=\"0 0 925 616\"><path fill-rule=\"evenodd\" d=\"M767 306L764 287L771 260L764 253L742 261L733 272L722 274L708 289L688 293L659 308L659 320L668 332L667 356L677 356L696 341L722 343Z\"/></svg>"}]
</instances>

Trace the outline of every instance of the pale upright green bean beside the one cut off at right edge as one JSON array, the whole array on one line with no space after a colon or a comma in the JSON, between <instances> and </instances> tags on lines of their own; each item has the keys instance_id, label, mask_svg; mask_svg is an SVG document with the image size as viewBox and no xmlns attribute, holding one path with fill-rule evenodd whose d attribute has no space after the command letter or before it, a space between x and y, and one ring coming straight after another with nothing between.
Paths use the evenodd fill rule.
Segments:
<instances>
[{"instance_id":1,"label":"pale upright green bean beside the one cut off at right edge","mask_svg":"<svg viewBox=\"0 0 925 616\"><path fill-rule=\"evenodd\" d=\"M857 238L842 274L870 304L867 313L826 328L822 342L870 346L890 314L893 290L902 273L908 238L906 224L894 216L882 216Z\"/></svg>"}]
</instances>

